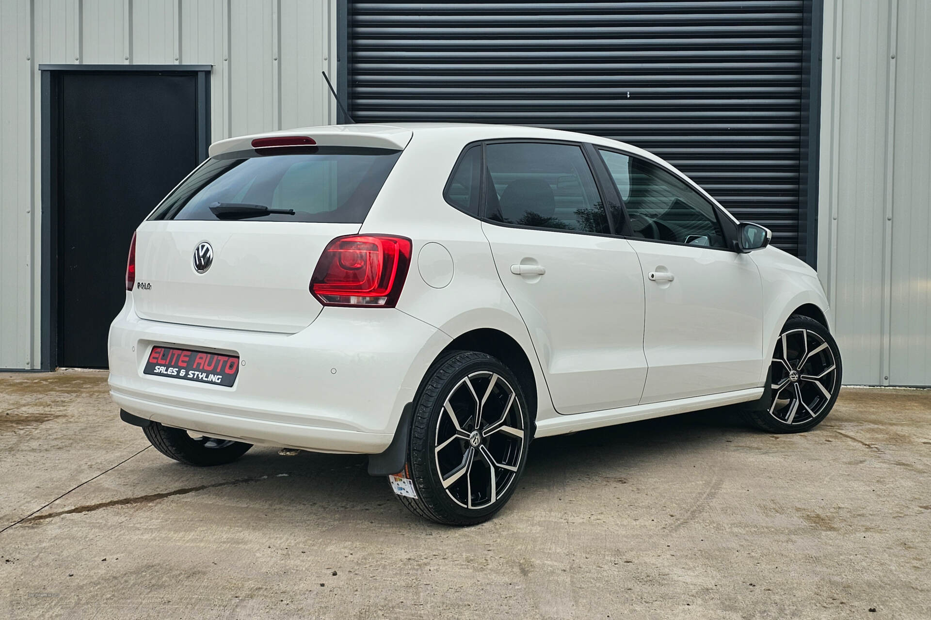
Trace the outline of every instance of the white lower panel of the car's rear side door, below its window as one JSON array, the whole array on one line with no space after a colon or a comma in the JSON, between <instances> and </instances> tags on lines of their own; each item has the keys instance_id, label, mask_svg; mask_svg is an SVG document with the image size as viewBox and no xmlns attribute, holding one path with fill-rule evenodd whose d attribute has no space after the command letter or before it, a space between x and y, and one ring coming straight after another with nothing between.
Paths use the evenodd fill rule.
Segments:
<instances>
[{"instance_id":1,"label":"white lower panel of the car's rear side door, below its window","mask_svg":"<svg viewBox=\"0 0 931 620\"><path fill-rule=\"evenodd\" d=\"M556 411L637 404L646 378L643 278L627 239L488 222L482 230L530 330Z\"/></svg>"}]
</instances>

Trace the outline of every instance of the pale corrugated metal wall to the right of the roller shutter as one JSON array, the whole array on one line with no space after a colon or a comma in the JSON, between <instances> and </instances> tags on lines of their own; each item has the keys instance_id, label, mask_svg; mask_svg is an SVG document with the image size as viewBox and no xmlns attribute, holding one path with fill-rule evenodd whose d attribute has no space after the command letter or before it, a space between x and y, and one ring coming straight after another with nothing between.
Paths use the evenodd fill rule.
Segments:
<instances>
[{"instance_id":1,"label":"pale corrugated metal wall to the right of the roller shutter","mask_svg":"<svg viewBox=\"0 0 931 620\"><path fill-rule=\"evenodd\" d=\"M818 272L848 384L931 385L931 2L827 0Z\"/></svg>"}]
</instances>

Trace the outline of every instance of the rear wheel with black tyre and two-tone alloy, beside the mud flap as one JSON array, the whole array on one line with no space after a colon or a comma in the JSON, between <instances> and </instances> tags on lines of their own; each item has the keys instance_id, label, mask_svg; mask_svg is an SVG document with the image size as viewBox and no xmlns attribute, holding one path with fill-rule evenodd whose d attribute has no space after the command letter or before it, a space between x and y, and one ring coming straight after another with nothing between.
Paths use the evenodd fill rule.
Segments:
<instances>
[{"instance_id":1,"label":"rear wheel with black tyre and two-tone alloy, beside the mud flap","mask_svg":"<svg viewBox=\"0 0 931 620\"><path fill-rule=\"evenodd\" d=\"M474 351L439 358L415 398L401 472L416 497L398 499L442 524L491 519L517 489L531 428L519 381L501 361Z\"/></svg>"}]
</instances>

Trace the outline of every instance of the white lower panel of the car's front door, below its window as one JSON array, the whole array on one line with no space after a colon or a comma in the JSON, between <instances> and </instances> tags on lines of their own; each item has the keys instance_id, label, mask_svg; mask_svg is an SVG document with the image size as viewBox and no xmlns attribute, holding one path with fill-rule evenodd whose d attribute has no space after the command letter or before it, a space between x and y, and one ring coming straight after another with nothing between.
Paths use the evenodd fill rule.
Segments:
<instances>
[{"instance_id":1,"label":"white lower panel of the car's front door, below its window","mask_svg":"<svg viewBox=\"0 0 931 620\"><path fill-rule=\"evenodd\" d=\"M643 349L650 371L641 403L759 385L771 356L762 349L762 286L751 254L641 240L630 245L640 256L646 291Z\"/></svg>"}]
</instances>

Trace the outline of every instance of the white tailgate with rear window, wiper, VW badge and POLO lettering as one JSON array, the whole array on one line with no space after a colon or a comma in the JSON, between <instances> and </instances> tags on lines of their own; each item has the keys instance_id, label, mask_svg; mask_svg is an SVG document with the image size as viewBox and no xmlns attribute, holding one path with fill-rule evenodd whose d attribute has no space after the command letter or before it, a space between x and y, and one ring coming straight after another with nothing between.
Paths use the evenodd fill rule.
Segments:
<instances>
[{"instance_id":1,"label":"white tailgate with rear window, wiper, VW badge and POLO lettering","mask_svg":"<svg viewBox=\"0 0 931 620\"><path fill-rule=\"evenodd\" d=\"M137 232L140 317L294 333L322 306L321 253L358 232L399 150L309 146L217 155Z\"/></svg>"}]
</instances>

